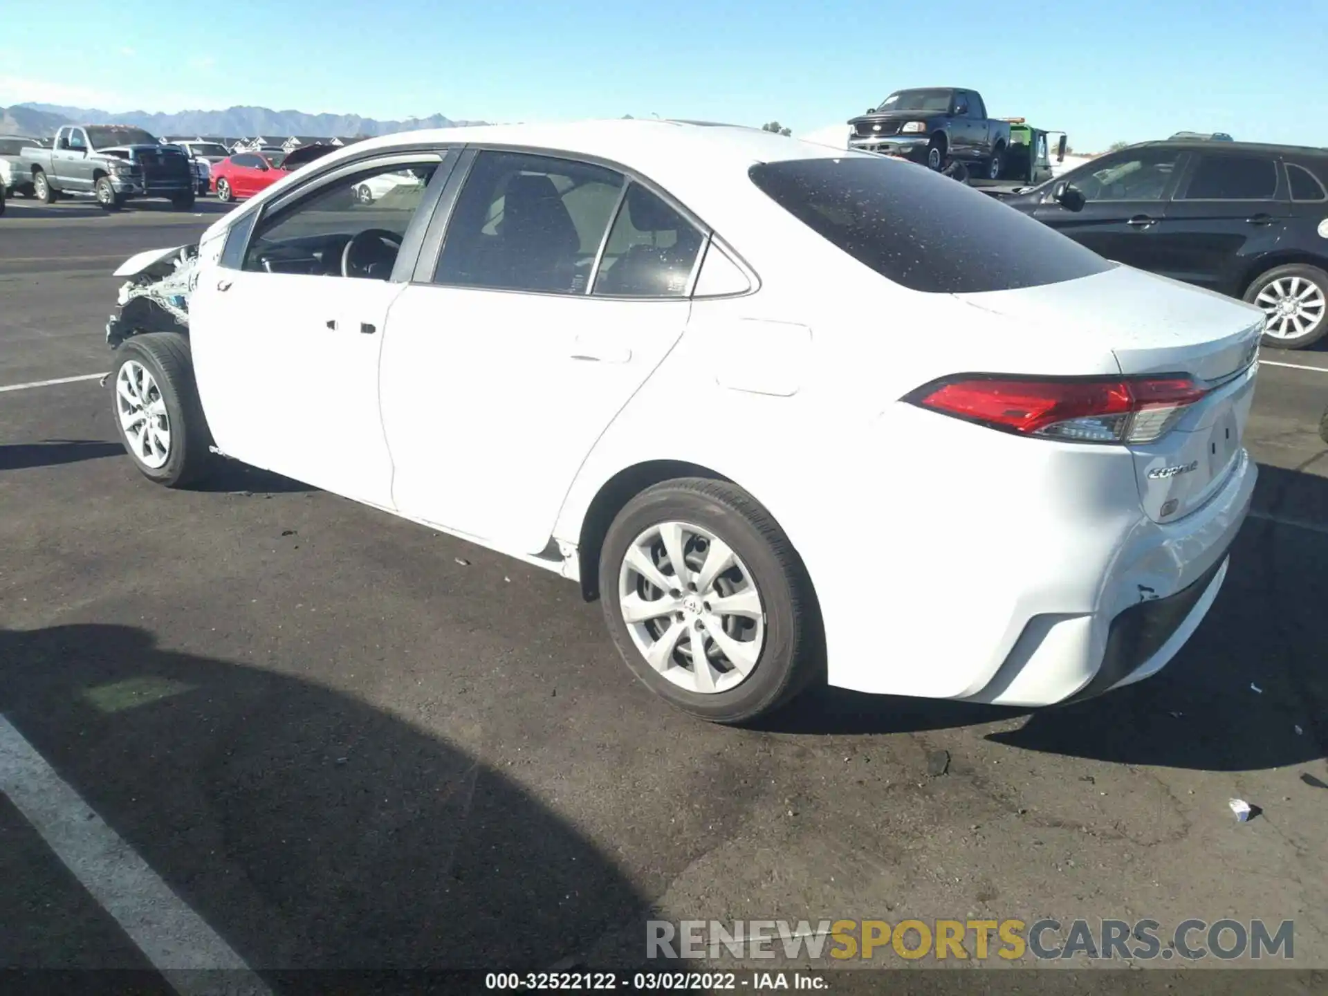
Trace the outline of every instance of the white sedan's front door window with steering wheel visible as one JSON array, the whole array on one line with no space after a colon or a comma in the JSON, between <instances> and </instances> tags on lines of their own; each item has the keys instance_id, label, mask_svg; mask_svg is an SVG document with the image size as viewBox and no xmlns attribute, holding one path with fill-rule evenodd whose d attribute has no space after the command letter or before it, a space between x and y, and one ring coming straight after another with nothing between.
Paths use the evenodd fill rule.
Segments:
<instances>
[{"instance_id":1,"label":"white sedan's front door window with steering wheel visible","mask_svg":"<svg viewBox=\"0 0 1328 996\"><path fill-rule=\"evenodd\" d=\"M424 182L393 197L365 202L359 187L410 167ZM332 181L290 207L264 216L254 230L243 270L386 280L406 228L424 201L437 161L369 166Z\"/></svg>"}]
</instances>

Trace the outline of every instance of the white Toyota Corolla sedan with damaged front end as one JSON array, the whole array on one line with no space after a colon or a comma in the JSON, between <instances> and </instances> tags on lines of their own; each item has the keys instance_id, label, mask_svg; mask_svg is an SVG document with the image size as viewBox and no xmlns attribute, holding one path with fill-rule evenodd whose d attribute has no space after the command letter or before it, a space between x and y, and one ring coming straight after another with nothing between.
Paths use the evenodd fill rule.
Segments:
<instances>
[{"instance_id":1,"label":"white Toyota Corolla sedan with damaged front end","mask_svg":"<svg viewBox=\"0 0 1328 996\"><path fill-rule=\"evenodd\" d=\"M108 329L143 474L215 452L559 572L706 720L1151 675L1254 489L1259 309L878 155L414 131L283 178L153 291L170 252L118 271Z\"/></svg>"}]
</instances>

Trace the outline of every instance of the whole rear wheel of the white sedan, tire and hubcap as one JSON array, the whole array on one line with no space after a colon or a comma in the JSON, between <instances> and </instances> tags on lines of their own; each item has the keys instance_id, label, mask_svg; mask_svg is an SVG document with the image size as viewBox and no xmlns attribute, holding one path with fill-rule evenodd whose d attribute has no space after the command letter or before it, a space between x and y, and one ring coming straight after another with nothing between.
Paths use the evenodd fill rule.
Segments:
<instances>
[{"instance_id":1,"label":"whole rear wheel of the white sedan, tire and hubcap","mask_svg":"<svg viewBox=\"0 0 1328 996\"><path fill-rule=\"evenodd\" d=\"M619 653L651 691L712 722L769 713L821 671L819 612L780 526L752 495L665 481L614 519L599 564Z\"/></svg>"}]
</instances>

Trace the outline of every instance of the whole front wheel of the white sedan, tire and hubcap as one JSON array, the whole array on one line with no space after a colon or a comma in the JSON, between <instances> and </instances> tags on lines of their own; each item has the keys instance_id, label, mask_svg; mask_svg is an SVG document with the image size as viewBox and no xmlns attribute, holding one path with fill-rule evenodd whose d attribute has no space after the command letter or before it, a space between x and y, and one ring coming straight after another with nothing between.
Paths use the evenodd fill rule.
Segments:
<instances>
[{"instance_id":1,"label":"whole front wheel of the white sedan, tire and hubcap","mask_svg":"<svg viewBox=\"0 0 1328 996\"><path fill-rule=\"evenodd\" d=\"M117 352L112 404L125 450L149 481L166 487L197 481L211 453L189 340L177 332L145 332Z\"/></svg>"}]
</instances>

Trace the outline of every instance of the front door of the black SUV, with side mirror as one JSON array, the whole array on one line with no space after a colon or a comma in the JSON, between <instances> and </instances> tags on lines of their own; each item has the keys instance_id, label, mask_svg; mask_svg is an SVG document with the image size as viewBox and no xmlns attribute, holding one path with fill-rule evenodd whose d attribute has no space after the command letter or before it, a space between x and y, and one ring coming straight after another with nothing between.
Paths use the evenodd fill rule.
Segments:
<instances>
[{"instance_id":1,"label":"front door of the black SUV, with side mirror","mask_svg":"<svg viewBox=\"0 0 1328 996\"><path fill-rule=\"evenodd\" d=\"M1061 177L1084 193L1082 210L1062 207L1049 187L1033 216L1108 259L1157 271L1167 263L1154 228L1186 155L1175 146L1139 146L1104 155Z\"/></svg>"}]
</instances>

